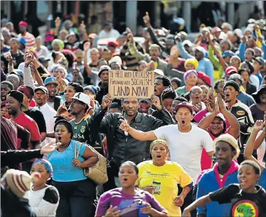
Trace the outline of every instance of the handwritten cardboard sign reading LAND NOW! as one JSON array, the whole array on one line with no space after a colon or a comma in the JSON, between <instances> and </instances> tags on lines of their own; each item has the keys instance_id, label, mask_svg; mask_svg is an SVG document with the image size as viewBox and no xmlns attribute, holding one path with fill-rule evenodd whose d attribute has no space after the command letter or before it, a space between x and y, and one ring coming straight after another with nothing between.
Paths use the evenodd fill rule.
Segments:
<instances>
[{"instance_id":1,"label":"handwritten cardboard sign reading LAND NOW!","mask_svg":"<svg viewBox=\"0 0 266 217\"><path fill-rule=\"evenodd\" d=\"M112 70L109 72L109 94L150 99L154 94L154 72Z\"/></svg>"}]
</instances>

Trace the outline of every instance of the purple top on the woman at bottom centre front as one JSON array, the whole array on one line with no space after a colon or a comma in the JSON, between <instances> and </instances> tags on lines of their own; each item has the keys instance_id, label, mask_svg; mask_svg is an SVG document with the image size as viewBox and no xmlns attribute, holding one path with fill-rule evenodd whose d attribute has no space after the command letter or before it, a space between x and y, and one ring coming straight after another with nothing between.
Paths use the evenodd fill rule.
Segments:
<instances>
[{"instance_id":1,"label":"purple top on the woman at bottom centre front","mask_svg":"<svg viewBox=\"0 0 266 217\"><path fill-rule=\"evenodd\" d=\"M129 195L125 194L122 188L116 188L100 196L96 216L105 216L107 209L112 205L113 207L118 206L117 210L120 211L120 217L137 217L137 205L142 201L149 203L156 211L167 213L166 209L147 191L138 189L134 195Z\"/></svg>"}]
</instances>

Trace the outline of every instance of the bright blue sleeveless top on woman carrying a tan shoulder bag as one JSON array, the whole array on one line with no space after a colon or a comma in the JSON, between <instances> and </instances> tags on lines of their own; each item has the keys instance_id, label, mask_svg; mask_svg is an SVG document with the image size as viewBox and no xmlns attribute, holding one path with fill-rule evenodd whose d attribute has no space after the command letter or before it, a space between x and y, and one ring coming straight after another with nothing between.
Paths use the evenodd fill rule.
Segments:
<instances>
[{"instance_id":1,"label":"bright blue sleeveless top on woman carrying a tan shoulder bag","mask_svg":"<svg viewBox=\"0 0 266 217\"><path fill-rule=\"evenodd\" d=\"M77 141L71 140L70 145L63 152L58 152L55 150L48 154L48 160L53 166L53 180L55 182L75 182L87 179L83 174L83 168L75 167L72 163L74 160L74 147L77 143L76 150L80 145L80 155L78 160L83 162L85 159L81 157L85 151L85 144L79 143Z\"/></svg>"}]
</instances>

